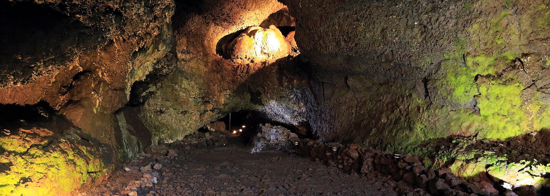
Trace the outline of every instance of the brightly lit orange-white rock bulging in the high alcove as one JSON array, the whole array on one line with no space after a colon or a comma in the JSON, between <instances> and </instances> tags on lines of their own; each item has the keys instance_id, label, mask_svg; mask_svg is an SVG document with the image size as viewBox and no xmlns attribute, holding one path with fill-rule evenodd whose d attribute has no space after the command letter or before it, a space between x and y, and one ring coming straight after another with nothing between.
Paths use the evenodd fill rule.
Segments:
<instances>
[{"instance_id":1,"label":"brightly lit orange-white rock bulging in the high alcove","mask_svg":"<svg viewBox=\"0 0 550 196\"><path fill-rule=\"evenodd\" d=\"M225 55L236 63L257 63L292 52L292 46L274 25L269 29L251 26L225 48Z\"/></svg>"}]
</instances>

